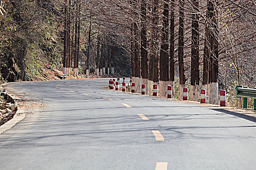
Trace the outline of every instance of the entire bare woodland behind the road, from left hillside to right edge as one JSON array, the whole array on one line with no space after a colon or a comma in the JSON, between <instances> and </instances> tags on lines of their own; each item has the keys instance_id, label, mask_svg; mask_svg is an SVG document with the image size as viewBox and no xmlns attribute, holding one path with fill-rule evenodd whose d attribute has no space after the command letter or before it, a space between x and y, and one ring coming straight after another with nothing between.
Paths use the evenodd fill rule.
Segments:
<instances>
[{"instance_id":1,"label":"entire bare woodland behind the road, from left hillside to right edge","mask_svg":"<svg viewBox=\"0 0 256 170\"><path fill-rule=\"evenodd\" d=\"M1 55L20 52L27 62L35 60L32 54L52 56L48 61L67 76L111 74L114 68L120 76L131 72L137 92L145 84L151 94L156 84L166 96L171 85L181 99L188 87L189 99L199 101L205 88L217 103L225 89L232 106L240 104L235 85L256 86L253 0L10 0L3 8ZM8 43L17 41L23 50ZM54 44L46 51L42 42Z\"/></svg>"}]
</instances>

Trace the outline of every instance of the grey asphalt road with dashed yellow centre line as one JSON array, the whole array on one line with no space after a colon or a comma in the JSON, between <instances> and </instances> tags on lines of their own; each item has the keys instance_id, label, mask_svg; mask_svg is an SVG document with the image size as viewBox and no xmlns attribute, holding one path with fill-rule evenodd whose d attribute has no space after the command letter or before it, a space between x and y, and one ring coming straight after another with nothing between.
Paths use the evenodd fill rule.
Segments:
<instances>
[{"instance_id":1,"label":"grey asphalt road with dashed yellow centre line","mask_svg":"<svg viewBox=\"0 0 256 170\"><path fill-rule=\"evenodd\" d=\"M0 170L256 169L254 121L110 91L108 79L7 86L48 107L0 135Z\"/></svg>"}]
</instances>

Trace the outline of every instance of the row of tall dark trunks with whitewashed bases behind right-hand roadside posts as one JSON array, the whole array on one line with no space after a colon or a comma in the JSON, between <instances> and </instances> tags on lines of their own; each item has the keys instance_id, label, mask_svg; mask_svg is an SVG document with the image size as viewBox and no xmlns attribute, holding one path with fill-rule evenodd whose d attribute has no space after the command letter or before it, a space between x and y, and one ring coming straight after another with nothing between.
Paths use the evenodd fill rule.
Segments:
<instances>
[{"instance_id":1,"label":"row of tall dark trunks with whitewashed bases behind right-hand roadside posts","mask_svg":"<svg viewBox=\"0 0 256 170\"><path fill-rule=\"evenodd\" d=\"M131 24L131 69L135 84L141 85L140 78L141 65L141 83L148 87L147 92L152 93L152 85L159 85L159 95L167 95L167 86L171 85L174 94L174 81L176 66L178 64L179 75L179 98L183 98L183 88L186 82L190 81L190 99L199 100L200 94L200 17L205 21L204 53L203 53L203 84L207 85L208 93L212 103L216 102L218 90L218 4L216 1L207 1L207 14L204 17L200 15L201 9L198 0L191 0L186 3L185 0L136 0L131 1L133 6L133 23ZM175 4L178 3L178 7ZM188 5L190 4L190 5ZM138 5L140 8L138 8ZM147 15L148 9L148 15ZM178 16L175 18L174 12L178 9ZM187 12L190 10L190 14ZM140 17L138 16L140 13ZM191 15L188 26L185 17ZM140 22L138 22L138 20ZM176 20L176 22L175 22ZM147 21L147 22L146 22ZM177 22L178 21L178 22ZM186 20L188 22L188 20ZM177 35L175 24L178 23ZM140 25L139 25L140 24ZM139 26L138 26L139 25ZM161 29L160 29L161 28ZM138 36L138 29L140 36ZM146 31L148 29L148 31ZM191 30L191 31L190 31ZM190 33L190 36L188 34ZM175 43L175 37L177 42ZM138 39L140 38L140 39ZM186 43L185 43L186 39ZM190 65L188 65L187 55L188 43L191 40L190 47ZM138 55L138 45L140 42L140 56ZM176 50L175 50L176 49ZM141 57L141 60L140 60ZM177 57L177 58L176 58ZM138 59L139 58L139 59ZM186 63L185 63L186 62ZM186 66L186 67L185 67ZM186 77L186 71L191 70L191 76ZM176 73L175 73L176 72ZM207 80L207 81L206 81ZM205 87L205 86L203 86ZM146 92L146 93L147 93Z\"/></svg>"}]
</instances>

